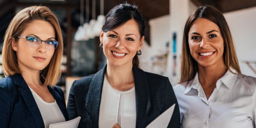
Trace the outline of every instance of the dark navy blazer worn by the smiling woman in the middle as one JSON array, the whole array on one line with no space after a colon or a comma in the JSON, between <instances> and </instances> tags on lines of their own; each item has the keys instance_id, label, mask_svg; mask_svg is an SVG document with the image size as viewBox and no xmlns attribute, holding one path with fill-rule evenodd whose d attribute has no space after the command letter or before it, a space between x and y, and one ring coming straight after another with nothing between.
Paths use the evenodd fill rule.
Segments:
<instances>
[{"instance_id":1,"label":"dark navy blazer worn by the smiling woman in the middle","mask_svg":"<svg viewBox=\"0 0 256 128\"><path fill-rule=\"evenodd\" d=\"M145 128L174 103L168 128L180 128L180 110L167 77L132 67L135 82L136 128ZM78 128L98 128L99 108L106 65L96 74L75 80L70 88L68 119L80 116ZM114 125L114 124L113 124Z\"/></svg>"}]
</instances>

